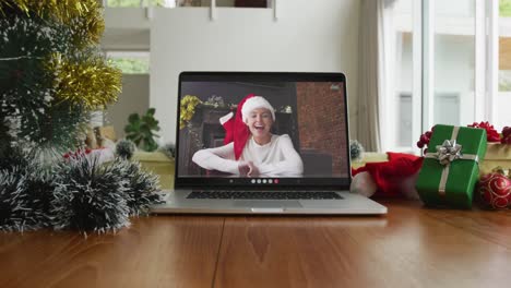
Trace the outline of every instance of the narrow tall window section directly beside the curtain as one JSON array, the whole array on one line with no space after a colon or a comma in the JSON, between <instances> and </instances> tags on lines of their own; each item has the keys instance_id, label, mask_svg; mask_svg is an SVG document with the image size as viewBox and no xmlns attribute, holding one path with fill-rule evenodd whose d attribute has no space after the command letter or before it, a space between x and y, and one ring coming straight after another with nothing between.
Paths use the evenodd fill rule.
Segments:
<instances>
[{"instance_id":1,"label":"narrow tall window section directly beside the curtain","mask_svg":"<svg viewBox=\"0 0 511 288\"><path fill-rule=\"evenodd\" d=\"M413 152L420 132L420 2L382 1L384 87L382 149Z\"/></svg>"}]
</instances>

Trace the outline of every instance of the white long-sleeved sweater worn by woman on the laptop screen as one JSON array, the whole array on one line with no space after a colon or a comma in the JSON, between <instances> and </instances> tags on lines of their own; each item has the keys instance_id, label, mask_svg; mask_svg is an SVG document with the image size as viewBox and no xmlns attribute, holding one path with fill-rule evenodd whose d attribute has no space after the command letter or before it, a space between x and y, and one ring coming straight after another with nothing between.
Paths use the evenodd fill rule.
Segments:
<instances>
[{"instance_id":1,"label":"white long-sleeved sweater worn by woman on the laptop screen","mask_svg":"<svg viewBox=\"0 0 511 288\"><path fill-rule=\"evenodd\" d=\"M299 177L304 173L301 158L287 134L272 135L270 143L264 145L259 145L250 137L239 160L236 160L233 142L221 147L198 151L192 160L204 169L233 175L239 175L238 165L243 161L252 161L261 176Z\"/></svg>"}]
</instances>

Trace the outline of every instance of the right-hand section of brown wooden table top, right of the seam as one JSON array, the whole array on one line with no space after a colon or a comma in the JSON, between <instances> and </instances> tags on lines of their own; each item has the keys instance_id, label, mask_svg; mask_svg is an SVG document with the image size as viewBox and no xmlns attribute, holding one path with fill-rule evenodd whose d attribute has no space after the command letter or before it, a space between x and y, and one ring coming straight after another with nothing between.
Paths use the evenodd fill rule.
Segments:
<instances>
[{"instance_id":1,"label":"right-hand section of brown wooden table top, right of the seam","mask_svg":"<svg viewBox=\"0 0 511 288\"><path fill-rule=\"evenodd\" d=\"M215 287L509 285L509 213L387 204L377 218L229 217Z\"/></svg>"}]
</instances>

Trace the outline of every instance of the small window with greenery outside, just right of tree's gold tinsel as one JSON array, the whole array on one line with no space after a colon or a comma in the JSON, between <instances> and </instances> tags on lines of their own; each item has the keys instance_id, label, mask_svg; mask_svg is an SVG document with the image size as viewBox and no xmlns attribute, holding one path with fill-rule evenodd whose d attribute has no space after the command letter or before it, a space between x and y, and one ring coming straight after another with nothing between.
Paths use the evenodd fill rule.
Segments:
<instances>
[{"instance_id":1,"label":"small window with greenery outside, just right of tree's gold tinsel","mask_svg":"<svg viewBox=\"0 0 511 288\"><path fill-rule=\"evenodd\" d=\"M150 52L108 51L106 57L123 74L150 73Z\"/></svg>"}]
</instances>

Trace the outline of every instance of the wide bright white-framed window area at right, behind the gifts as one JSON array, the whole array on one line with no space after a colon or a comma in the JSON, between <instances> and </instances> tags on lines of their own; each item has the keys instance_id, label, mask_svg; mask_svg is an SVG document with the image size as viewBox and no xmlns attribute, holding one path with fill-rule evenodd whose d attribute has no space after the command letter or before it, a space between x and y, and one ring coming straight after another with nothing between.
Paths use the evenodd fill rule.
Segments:
<instances>
[{"instance_id":1,"label":"wide bright white-framed window area at right, behind the gifts","mask_svg":"<svg viewBox=\"0 0 511 288\"><path fill-rule=\"evenodd\" d=\"M437 123L511 125L511 0L380 1L383 151L418 153Z\"/></svg>"}]
</instances>

